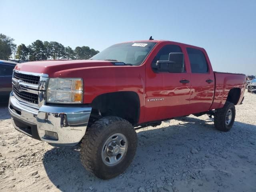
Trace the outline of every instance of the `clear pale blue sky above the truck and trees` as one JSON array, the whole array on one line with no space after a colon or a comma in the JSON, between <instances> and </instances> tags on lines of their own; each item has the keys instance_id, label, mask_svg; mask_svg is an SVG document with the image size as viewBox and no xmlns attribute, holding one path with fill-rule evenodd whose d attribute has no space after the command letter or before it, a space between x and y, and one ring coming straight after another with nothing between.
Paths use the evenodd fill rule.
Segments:
<instances>
[{"instance_id":1,"label":"clear pale blue sky above the truck and trees","mask_svg":"<svg viewBox=\"0 0 256 192\"><path fill-rule=\"evenodd\" d=\"M0 0L0 33L102 51L133 40L206 49L215 71L256 75L256 0Z\"/></svg>"}]
</instances>

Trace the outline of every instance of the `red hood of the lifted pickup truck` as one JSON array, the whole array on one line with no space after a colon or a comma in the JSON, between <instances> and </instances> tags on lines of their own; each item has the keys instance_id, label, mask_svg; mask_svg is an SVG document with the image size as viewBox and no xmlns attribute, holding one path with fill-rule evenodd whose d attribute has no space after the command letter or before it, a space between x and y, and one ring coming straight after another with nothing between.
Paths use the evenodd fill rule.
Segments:
<instances>
[{"instance_id":1,"label":"red hood of the lifted pickup truck","mask_svg":"<svg viewBox=\"0 0 256 192\"><path fill-rule=\"evenodd\" d=\"M15 70L48 74L49 77L57 77L60 71L76 68L114 66L110 61L101 60L48 60L34 61L17 64Z\"/></svg>"}]
</instances>

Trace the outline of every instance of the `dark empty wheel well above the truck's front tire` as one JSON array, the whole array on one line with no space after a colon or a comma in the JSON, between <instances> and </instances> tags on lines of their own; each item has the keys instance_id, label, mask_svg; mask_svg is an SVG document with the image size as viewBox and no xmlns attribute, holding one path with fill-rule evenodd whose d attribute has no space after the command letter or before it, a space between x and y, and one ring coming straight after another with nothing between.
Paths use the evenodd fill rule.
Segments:
<instances>
[{"instance_id":1,"label":"dark empty wheel well above the truck's front tire","mask_svg":"<svg viewBox=\"0 0 256 192\"><path fill-rule=\"evenodd\" d=\"M106 93L92 101L92 118L118 116L136 124L140 116L140 100L132 91Z\"/></svg>"}]
</instances>

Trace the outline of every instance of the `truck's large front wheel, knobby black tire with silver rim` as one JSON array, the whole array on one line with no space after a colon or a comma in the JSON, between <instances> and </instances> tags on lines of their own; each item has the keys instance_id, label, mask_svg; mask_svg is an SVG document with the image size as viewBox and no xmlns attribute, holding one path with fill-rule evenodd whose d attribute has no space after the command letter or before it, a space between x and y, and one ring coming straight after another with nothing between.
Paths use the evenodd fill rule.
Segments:
<instances>
[{"instance_id":1,"label":"truck's large front wheel, knobby black tire with silver rim","mask_svg":"<svg viewBox=\"0 0 256 192\"><path fill-rule=\"evenodd\" d=\"M126 170L137 148L137 134L128 121L108 116L88 127L81 144L81 161L86 170L110 179Z\"/></svg>"}]
</instances>

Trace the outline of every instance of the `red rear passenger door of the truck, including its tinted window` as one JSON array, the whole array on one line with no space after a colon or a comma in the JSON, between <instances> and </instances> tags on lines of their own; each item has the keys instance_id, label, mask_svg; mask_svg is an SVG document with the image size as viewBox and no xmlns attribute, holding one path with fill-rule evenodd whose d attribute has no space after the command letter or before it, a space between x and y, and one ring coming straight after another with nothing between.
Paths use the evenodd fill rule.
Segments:
<instances>
[{"instance_id":1,"label":"red rear passenger door of the truck, including its tinted window","mask_svg":"<svg viewBox=\"0 0 256 192\"><path fill-rule=\"evenodd\" d=\"M204 50L186 48L191 67L190 109L192 113L208 111L214 97L214 74Z\"/></svg>"}]
</instances>

